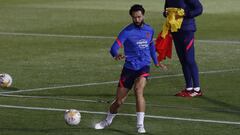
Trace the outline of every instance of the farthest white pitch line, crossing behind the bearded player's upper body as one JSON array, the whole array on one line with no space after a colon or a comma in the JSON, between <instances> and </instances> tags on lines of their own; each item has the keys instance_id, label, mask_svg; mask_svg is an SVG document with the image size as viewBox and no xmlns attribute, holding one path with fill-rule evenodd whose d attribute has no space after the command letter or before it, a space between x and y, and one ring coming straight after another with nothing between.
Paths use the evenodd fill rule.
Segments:
<instances>
[{"instance_id":1,"label":"farthest white pitch line, crossing behind the bearded player's upper body","mask_svg":"<svg viewBox=\"0 0 240 135\"><path fill-rule=\"evenodd\" d=\"M64 34L42 34L42 33L15 33L15 32L0 32L0 35L9 36L35 36L35 37L56 37L56 38L84 38L84 39L115 39L112 36L81 36L81 35L64 35ZM220 40L196 40L200 43L214 44L240 44L240 41L220 41Z\"/></svg>"}]
</instances>

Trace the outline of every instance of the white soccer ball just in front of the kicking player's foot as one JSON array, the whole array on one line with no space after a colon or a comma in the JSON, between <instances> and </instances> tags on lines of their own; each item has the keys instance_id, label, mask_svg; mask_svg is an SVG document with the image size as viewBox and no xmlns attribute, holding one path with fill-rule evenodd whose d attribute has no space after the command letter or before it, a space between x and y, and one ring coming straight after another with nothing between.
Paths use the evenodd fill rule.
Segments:
<instances>
[{"instance_id":1,"label":"white soccer ball just in front of the kicking player's foot","mask_svg":"<svg viewBox=\"0 0 240 135\"><path fill-rule=\"evenodd\" d=\"M64 120L70 126L76 126L80 123L81 114L78 110L70 109L64 113Z\"/></svg>"}]
</instances>

